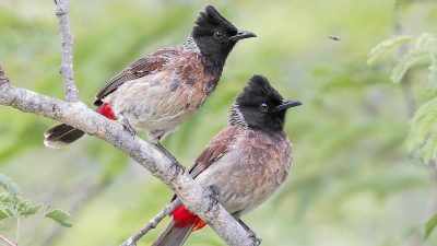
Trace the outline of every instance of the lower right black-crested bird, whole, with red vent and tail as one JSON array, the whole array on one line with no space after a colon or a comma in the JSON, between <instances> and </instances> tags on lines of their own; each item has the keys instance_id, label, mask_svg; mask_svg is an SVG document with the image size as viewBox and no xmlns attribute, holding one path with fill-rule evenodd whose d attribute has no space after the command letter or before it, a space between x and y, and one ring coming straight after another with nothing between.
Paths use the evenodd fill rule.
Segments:
<instances>
[{"instance_id":1,"label":"lower right black-crested bird, whole, with red vent and tail","mask_svg":"<svg viewBox=\"0 0 437 246\"><path fill-rule=\"evenodd\" d=\"M217 201L248 232L251 230L240 216L267 200L288 175L292 143L284 132L285 115L299 105L298 101L284 99L265 77L253 75L235 99L228 126L189 168L194 183L213 190ZM184 204L172 215L153 246L180 246L192 231L205 225Z\"/></svg>"}]
</instances>

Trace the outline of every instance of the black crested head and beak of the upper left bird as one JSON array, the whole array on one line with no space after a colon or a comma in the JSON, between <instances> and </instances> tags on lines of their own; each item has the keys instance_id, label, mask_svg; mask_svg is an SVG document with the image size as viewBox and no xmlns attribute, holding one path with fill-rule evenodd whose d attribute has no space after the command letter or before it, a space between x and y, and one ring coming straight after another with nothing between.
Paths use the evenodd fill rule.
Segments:
<instances>
[{"instance_id":1,"label":"black crested head and beak of the upper left bird","mask_svg":"<svg viewBox=\"0 0 437 246\"><path fill-rule=\"evenodd\" d=\"M200 12L191 36L202 54L214 61L224 63L238 40L256 35L251 32L238 31L214 7L209 5L204 12Z\"/></svg>"}]
</instances>

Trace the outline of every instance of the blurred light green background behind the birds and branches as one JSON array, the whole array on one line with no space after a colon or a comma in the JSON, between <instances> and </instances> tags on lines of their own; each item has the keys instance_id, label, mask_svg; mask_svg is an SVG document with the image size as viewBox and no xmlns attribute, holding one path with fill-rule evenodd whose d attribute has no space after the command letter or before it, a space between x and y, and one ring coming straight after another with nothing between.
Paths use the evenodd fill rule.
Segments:
<instances>
[{"instance_id":1,"label":"blurred light green background behind the birds and branches","mask_svg":"<svg viewBox=\"0 0 437 246\"><path fill-rule=\"evenodd\" d=\"M422 237L423 224L437 210L435 169L404 148L412 109L435 96L423 83L426 68L410 73L411 93L389 81L395 52L366 65L371 47L394 35L395 22L412 36L436 31L435 0L400 2L397 16L392 0L71 1L75 81L92 105L95 92L125 66L182 43L198 12L213 3L258 37L235 47L215 93L165 145L189 165L226 126L247 80L264 74L304 106L287 116L294 142L287 181L244 218L263 245L437 245L436 232ZM50 0L0 0L0 60L14 85L62 97L54 9ZM71 229L23 220L20 245L119 245L166 204L172 196L166 186L98 139L45 148L43 132L55 124L0 108L0 173L23 196L72 214ZM164 223L140 245L150 245ZM14 233L14 220L1 221L0 234ZM205 229L187 245L223 243Z\"/></svg>"}]
</instances>

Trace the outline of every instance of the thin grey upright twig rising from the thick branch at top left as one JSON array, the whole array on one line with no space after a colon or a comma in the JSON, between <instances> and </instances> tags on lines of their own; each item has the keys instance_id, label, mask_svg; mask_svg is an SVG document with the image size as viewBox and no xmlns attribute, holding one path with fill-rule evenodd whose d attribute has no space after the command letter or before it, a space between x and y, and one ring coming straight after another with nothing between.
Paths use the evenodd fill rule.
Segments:
<instances>
[{"instance_id":1,"label":"thin grey upright twig rising from the thick branch at top left","mask_svg":"<svg viewBox=\"0 0 437 246\"><path fill-rule=\"evenodd\" d=\"M68 0L57 0L56 15L58 16L60 39L62 47L62 61L60 73L63 80L63 90L67 102L79 102L79 91L74 84L73 71L73 34L69 24L69 2Z\"/></svg>"}]
</instances>

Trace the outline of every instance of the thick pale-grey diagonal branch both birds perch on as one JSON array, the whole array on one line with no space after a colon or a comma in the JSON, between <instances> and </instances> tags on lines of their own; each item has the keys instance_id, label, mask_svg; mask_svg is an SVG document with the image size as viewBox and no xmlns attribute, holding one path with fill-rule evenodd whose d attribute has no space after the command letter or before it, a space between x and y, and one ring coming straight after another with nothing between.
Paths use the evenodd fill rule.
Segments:
<instances>
[{"instance_id":1,"label":"thick pale-grey diagonal branch both birds perch on","mask_svg":"<svg viewBox=\"0 0 437 246\"><path fill-rule=\"evenodd\" d=\"M180 201L205 221L228 245L255 245L249 233L191 176L140 138L132 138L116 121L106 119L82 103L63 102L24 89L0 84L0 105L17 108L71 125L101 138L129 154L172 188Z\"/></svg>"}]
</instances>

